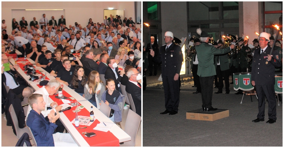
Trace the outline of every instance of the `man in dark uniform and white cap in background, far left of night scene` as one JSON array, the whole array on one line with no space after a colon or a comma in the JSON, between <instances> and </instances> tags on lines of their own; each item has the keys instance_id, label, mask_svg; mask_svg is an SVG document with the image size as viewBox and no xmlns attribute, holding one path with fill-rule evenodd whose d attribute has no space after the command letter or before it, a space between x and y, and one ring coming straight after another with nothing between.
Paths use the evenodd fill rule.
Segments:
<instances>
[{"instance_id":1,"label":"man in dark uniform and white cap in background, far left of night scene","mask_svg":"<svg viewBox=\"0 0 284 148\"><path fill-rule=\"evenodd\" d=\"M154 50L154 52L156 53L155 55L158 55L159 53L159 45L155 42L155 37L151 36L151 43L147 44L146 50L145 52L148 52L148 61L149 61L149 76L152 76L152 71L153 71L153 67L154 67L154 75L157 75L157 69L158 69L158 64L153 62L153 57L150 55L150 44L152 44L152 49ZM154 64L154 66L153 66Z\"/></svg>"}]
</instances>

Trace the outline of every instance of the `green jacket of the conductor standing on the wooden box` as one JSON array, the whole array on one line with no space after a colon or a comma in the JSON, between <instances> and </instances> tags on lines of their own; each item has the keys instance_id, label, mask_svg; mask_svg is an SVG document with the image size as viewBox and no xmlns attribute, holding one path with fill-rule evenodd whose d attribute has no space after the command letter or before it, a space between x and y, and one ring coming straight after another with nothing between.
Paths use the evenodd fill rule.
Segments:
<instances>
[{"instance_id":1,"label":"green jacket of the conductor standing on the wooden box","mask_svg":"<svg viewBox=\"0 0 284 148\"><path fill-rule=\"evenodd\" d=\"M197 75L199 75L199 77L209 77L216 75L214 55L228 53L231 51L231 48L227 47L224 49L218 49L212 45L202 42L200 45L195 47L195 50L198 58Z\"/></svg>"}]
</instances>

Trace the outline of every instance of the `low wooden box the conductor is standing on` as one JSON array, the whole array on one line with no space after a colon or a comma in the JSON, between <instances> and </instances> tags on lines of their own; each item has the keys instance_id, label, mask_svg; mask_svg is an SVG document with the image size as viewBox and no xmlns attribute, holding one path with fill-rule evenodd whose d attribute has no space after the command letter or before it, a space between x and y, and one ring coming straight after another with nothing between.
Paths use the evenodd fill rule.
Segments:
<instances>
[{"instance_id":1,"label":"low wooden box the conductor is standing on","mask_svg":"<svg viewBox=\"0 0 284 148\"><path fill-rule=\"evenodd\" d=\"M192 120L214 121L225 117L229 117L229 109L217 109L216 111L197 109L186 113L186 119Z\"/></svg>"}]
</instances>

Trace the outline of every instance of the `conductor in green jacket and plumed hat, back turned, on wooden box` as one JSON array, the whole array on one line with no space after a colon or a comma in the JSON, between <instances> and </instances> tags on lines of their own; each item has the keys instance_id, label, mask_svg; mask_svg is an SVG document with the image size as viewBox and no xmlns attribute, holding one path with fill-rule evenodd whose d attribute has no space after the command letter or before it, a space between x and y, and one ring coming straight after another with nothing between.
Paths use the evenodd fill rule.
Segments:
<instances>
[{"instance_id":1,"label":"conductor in green jacket and plumed hat, back turned, on wooden box","mask_svg":"<svg viewBox=\"0 0 284 148\"><path fill-rule=\"evenodd\" d=\"M235 46L231 45L224 49L217 49L212 45L208 45L209 35L206 32L202 31L199 34L202 43L197 45L195 49L199 59L197 75L201 84L202 108L204 111L215 111L217 108L212 107L213 81L214 75L216 75L214 55L230 52L231 48L233 49Z\"/></svg>"}]
</instances>

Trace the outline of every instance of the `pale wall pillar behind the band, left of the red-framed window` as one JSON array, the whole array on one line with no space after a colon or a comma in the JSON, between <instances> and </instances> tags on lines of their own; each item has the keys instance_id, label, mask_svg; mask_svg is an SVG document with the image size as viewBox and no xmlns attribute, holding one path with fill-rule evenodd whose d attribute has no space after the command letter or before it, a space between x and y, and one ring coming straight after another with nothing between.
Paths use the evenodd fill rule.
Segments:
<instances>
[{"instance_id":1,"label":"pale wall pillar behind the band, left of the red-framed window","mask_svg":"<svg viewBox=\"0 0 284 148\"><path fill-rule=\"evenodd\" d=\"M240 16L241 17L241 16ZM254 39L258 38L255 32L259 33L258 24L258 2L243 2L243 34L249 36L249 44L252 44ZM240 37L242 34L240 34Z\"/></svg>"}]
</instances>

